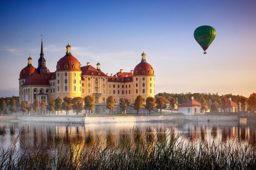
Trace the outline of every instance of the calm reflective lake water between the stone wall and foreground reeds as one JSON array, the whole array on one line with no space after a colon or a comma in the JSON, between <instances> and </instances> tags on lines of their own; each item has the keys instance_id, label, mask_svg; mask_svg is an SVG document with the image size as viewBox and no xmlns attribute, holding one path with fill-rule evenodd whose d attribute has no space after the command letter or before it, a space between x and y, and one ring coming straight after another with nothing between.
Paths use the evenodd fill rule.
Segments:
<instances>
[{"instance_id":1,"label":"calm reflective lake water between the stone wall and foreground reeds","mask_svg":"<svg viewBox=\"0 0 256 170\"><path fill-rule=\"evenodd\" d=\"M92 145L101 140L103 145L123 140L134 140L135 132L146 135L151 142L161 140L169 133L180 134L187 142L239 140L242 144L256 145L256 123L246 122L169 122L169 123L112 123L70 124L44 122L0 122L0 146L7 149L15 143L21 151L40 149L51 151L58 145L67 147L82 141ZM159 136L161 134L161 136ZM2 150L0 151L0 153Z\"/></svg>"}]
</instances>

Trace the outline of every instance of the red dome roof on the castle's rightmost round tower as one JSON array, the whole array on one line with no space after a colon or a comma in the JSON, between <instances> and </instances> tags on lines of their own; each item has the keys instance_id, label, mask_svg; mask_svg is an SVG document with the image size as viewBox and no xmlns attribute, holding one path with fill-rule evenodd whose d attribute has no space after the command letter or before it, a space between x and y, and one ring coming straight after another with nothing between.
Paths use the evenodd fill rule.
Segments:
<instances>
[{"instance_id":1,"label":"red dome roof on the castle's rightmost round tower","mask_svg":"<svg viewBox=\"0 0 256 170\"><path fill-rule=\"evenodd\" d=\"M154 76L154 69L145 60L142 60L134 68L134 76Z\"/></svg>"}]
</instances>

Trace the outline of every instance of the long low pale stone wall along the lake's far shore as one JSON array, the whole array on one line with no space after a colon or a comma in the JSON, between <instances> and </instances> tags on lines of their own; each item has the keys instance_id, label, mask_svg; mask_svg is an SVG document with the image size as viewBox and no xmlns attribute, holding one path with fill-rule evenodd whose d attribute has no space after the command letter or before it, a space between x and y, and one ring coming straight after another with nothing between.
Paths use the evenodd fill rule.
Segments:
<instances>
[{"instance_id":1,"label":"long low pale stone wall along the lake's far shore","mask_svg":"<svg viewBox=\"0 0 256 170\"><path fill-rule=\"evenodd\" d=\"M238 116L213 116L213 115L151 115L151 116L1 116L0 121L19 120L27 122L74 122L74 123L123 123L123 122L182 122L182 121L239 121Z\"/></svg>"}]
</instances>

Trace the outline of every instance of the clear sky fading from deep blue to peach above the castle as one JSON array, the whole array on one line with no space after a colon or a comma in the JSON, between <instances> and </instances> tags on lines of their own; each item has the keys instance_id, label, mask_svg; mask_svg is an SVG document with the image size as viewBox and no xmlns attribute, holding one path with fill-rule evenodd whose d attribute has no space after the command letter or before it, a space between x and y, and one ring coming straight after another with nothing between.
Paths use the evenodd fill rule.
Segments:
<instances>
[{"instance_id":1,"label":"clear sky fading from deep blue to peach above the castle","mask_svg":"<svg viewBox=\"0 0 256 170\"><path fill-rule=\"evenodd\" d=\"M28 57L37 68L43 34L47 68L71 51L81 65L115 74L140 63L154 68L155 94L256 92L255 0L0 1L0 97L19 95ZM209 25L207 54L193 37Z\"/></svg>"}]
</instances>

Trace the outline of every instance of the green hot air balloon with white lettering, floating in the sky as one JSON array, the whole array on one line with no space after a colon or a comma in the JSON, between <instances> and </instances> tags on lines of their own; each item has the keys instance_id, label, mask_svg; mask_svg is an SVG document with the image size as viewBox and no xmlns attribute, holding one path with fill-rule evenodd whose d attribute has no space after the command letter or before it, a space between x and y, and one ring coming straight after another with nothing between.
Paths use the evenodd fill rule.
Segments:
<instances>
[{"instance_id":1,"label":"green hot air balloon with white lettering, floating in the sky","mask_svg":"<svg viewBox=\"0 0 256 170\"><path fill-rule=\"evenodd\" d=\"M211 26L200 26L194 31L194 38L203 48L204 54L216 36L216 30Z\"/></svg>"}]
</instances>

